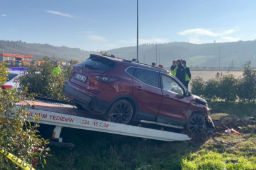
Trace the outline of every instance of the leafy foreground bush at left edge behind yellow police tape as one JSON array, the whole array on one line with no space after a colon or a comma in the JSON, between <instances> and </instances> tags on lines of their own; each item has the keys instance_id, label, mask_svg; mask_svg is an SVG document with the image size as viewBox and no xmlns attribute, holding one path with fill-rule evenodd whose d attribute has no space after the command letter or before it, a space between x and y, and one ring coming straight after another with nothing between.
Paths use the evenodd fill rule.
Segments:
<instances>
[{"instance_id":1,"label":"leafy foreground bush at left edge behind yellow police tape","mask_svg":"<svg viewBox=\"0 0 256 170\"><path fill-rule=\"evenodd\" d=\"M7 75L8 71L3 64L0 64L0 86L5 84ZM33 125L28 121L26 96L27 88L25 91L0 90L0 146L36 167L37 164L45 162L49 148L46 148L46 140L40 139L40 136L37 135L39 116L34 117ZM16 103L23 103L23 105L17 107ZM13 119L9 120L10 117ZM0 153L0 169L20 168Z\"/></svg>"}]
</instances>

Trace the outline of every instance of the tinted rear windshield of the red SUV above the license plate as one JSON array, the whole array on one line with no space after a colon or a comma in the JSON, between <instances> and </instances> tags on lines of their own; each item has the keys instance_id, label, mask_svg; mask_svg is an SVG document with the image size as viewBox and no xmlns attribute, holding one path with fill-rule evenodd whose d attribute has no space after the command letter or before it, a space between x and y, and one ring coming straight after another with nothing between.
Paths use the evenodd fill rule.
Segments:
<instances>
[{"instance_id":1,"label":"tinted rear windshield of the red SUV above the license plate","mask_svg":"<svg viewBox=\"0 0 256 170\"><path fill-rule=\"evenodd\" d=\"M80 62L78 65L95 71L109 71L118 66L118 64L112 60L104 57L90 57L89 59Z\"/></svg>"}]
</instances>

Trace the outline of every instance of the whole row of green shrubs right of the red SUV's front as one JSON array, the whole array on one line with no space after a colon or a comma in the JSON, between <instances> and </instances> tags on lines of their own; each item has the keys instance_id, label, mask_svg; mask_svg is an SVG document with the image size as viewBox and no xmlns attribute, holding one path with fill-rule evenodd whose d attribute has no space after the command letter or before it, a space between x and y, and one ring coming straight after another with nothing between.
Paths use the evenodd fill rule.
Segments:
<instances>
[{"instance_id":1,"label":"whole row of green shrubs right of the red SUV's front","mask_svg":"<svg viewBox=\"0 0 256 170\"><path fill-rule=\"evenodd\" d=\"M192 94L202 96L212 101L223 99L225 101L236 101L252 103L256 99L256 71L248 61L243 65L243 76L236 78L232 74L227 76L216 76L204 81L202 77L192 80Z\"/></svg>"}]
</instances>

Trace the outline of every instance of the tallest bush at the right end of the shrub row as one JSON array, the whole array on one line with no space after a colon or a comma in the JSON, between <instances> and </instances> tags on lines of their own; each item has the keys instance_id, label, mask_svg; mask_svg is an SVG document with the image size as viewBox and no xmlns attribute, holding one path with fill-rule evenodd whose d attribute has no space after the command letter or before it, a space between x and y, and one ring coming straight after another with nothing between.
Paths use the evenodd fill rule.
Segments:
<instances>
[{"instance_id":1,"label":"tallest bush at the right end of the shrub row","mask_svg":"<svg viewBox=\"0 0 256 170\"><path fill-rule=\"evenodd\" d=\"M256 99L256 72L248 61L243 65L243 77L238 82L238 97L240 101L252 103Z\"/></svg>"}]
</instances>

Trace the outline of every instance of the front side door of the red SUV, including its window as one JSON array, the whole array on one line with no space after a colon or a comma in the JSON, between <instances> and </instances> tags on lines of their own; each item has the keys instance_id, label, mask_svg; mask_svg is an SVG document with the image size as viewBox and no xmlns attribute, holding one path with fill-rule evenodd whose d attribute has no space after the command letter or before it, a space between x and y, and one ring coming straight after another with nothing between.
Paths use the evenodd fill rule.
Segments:
<instances>
[{"instance_id":1,"label":"front side door of the red SUV, including its window","mask_svg":"<svg viewBox=\"0 0 256 170\"><path fill-rule=\"evenodd\" d=\"M174 77L161 74L162 103L157 122L184 125L190 116L190 97L185 97L185 89Z\"/></svg>"}]
</instances>

